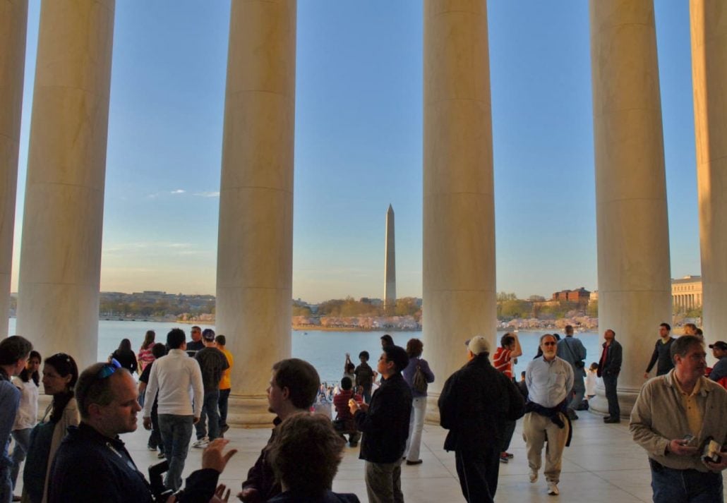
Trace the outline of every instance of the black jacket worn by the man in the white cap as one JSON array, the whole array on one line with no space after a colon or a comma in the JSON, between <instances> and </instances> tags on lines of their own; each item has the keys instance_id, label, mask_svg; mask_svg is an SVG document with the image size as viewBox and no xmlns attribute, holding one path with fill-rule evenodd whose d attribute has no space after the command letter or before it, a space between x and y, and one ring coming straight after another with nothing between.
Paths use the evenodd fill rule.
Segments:
<instances>
[{"instance_id":1,"label":"black jacket worn by the man in the white cap","mask_svg":"<svg viewBox=\"0 0 727 503\"><path fill-rule=\"evenodd\" d=\"M451 374L439 396L446 451L483 451L502 445L506 420L523 417L525 401L515 384L481 353Z\"/></svg>"}]
</instances>

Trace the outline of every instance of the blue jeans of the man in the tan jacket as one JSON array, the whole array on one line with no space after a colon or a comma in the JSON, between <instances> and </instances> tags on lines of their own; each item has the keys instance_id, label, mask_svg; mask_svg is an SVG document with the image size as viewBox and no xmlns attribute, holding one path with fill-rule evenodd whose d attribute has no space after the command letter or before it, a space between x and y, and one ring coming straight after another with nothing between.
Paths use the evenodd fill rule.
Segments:
<instances>
[{"instance_id":1,"label":"blue jeans of the man in the tan jacket","mask_svg":"<svg viewBox=\"0 0 727 503\"><path fill-rule=\"evenodd\" d=\"M723 503L722 474L697 470L667 468L654 459L651 467L651 488L654 503Z\"/></svg>"}]
</instances>

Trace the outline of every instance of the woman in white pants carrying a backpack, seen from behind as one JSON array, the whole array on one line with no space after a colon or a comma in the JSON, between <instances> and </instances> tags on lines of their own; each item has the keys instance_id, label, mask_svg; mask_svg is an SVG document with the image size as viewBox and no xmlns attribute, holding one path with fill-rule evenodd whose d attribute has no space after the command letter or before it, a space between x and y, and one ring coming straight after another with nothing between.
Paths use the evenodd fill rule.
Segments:
<instances>
[{"instance_id":1,"label":"woman in white pants carrying a backpack, seen from behind","mask_svg":"<svg viewBox=\"0 0 727 503\"><path fill-rule=\"evenodd\" d=\"M406 439L406 464L421 464L419 448L422 446L422 429L424 428L424 414L427 410L427 385L434 382L434 373L429 363L422 358L424 343L419 339L409 339L406 342L406 355L409 356L409 365L402 374L406 384L411 388L411 414L409 415L409 438Z\"/></svg>"}]
</instances>

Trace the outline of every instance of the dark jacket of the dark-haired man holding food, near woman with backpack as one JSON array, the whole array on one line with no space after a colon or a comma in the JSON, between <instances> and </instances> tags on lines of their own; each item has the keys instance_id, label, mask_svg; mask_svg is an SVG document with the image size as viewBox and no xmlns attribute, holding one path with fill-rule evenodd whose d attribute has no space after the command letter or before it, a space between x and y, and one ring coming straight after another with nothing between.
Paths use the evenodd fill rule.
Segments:
<instances>
[{"instance_id":1,"label":"dark jacket of the dark-haired man holding food, near woman with backpack","mask_svg":"<svg viewBox=\"0 0 727 503\"><path fill-rule=\"evenodd\" d=\"M369 411L356 411L356 428L364 432L359 458L371 463L393 463L401 459L409 437L411 389L401 376L383 379L374 391Z\"/></svg>"}]
</instances>

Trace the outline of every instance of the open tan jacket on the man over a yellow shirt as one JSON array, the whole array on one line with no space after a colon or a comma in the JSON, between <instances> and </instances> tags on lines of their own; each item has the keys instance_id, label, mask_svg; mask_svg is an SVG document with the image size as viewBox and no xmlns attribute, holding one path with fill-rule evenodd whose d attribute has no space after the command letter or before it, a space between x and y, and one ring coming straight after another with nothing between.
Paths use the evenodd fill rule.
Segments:
<instances>
[{"instance_id":1,"label":"open tan jacket on the man over a yellow shirt","mask_svg":"<svg viewBox=\"0 0 727 503\"><path fill-rule=\"evenodd\" d=\"M636 443L646 449L648 457L675 470L689 468L708 472L702 463L702 452L694 456L667 453L667 445L675 438L690 433L684 403L674 382L674 370L654 377L641 388L631 411L629 429ZM727 443L727 391L706 377L699 378L697 405L704 411L702 431L689 445L702 446L712 437L723 446Z\"/></svg>"}]
</instances>

